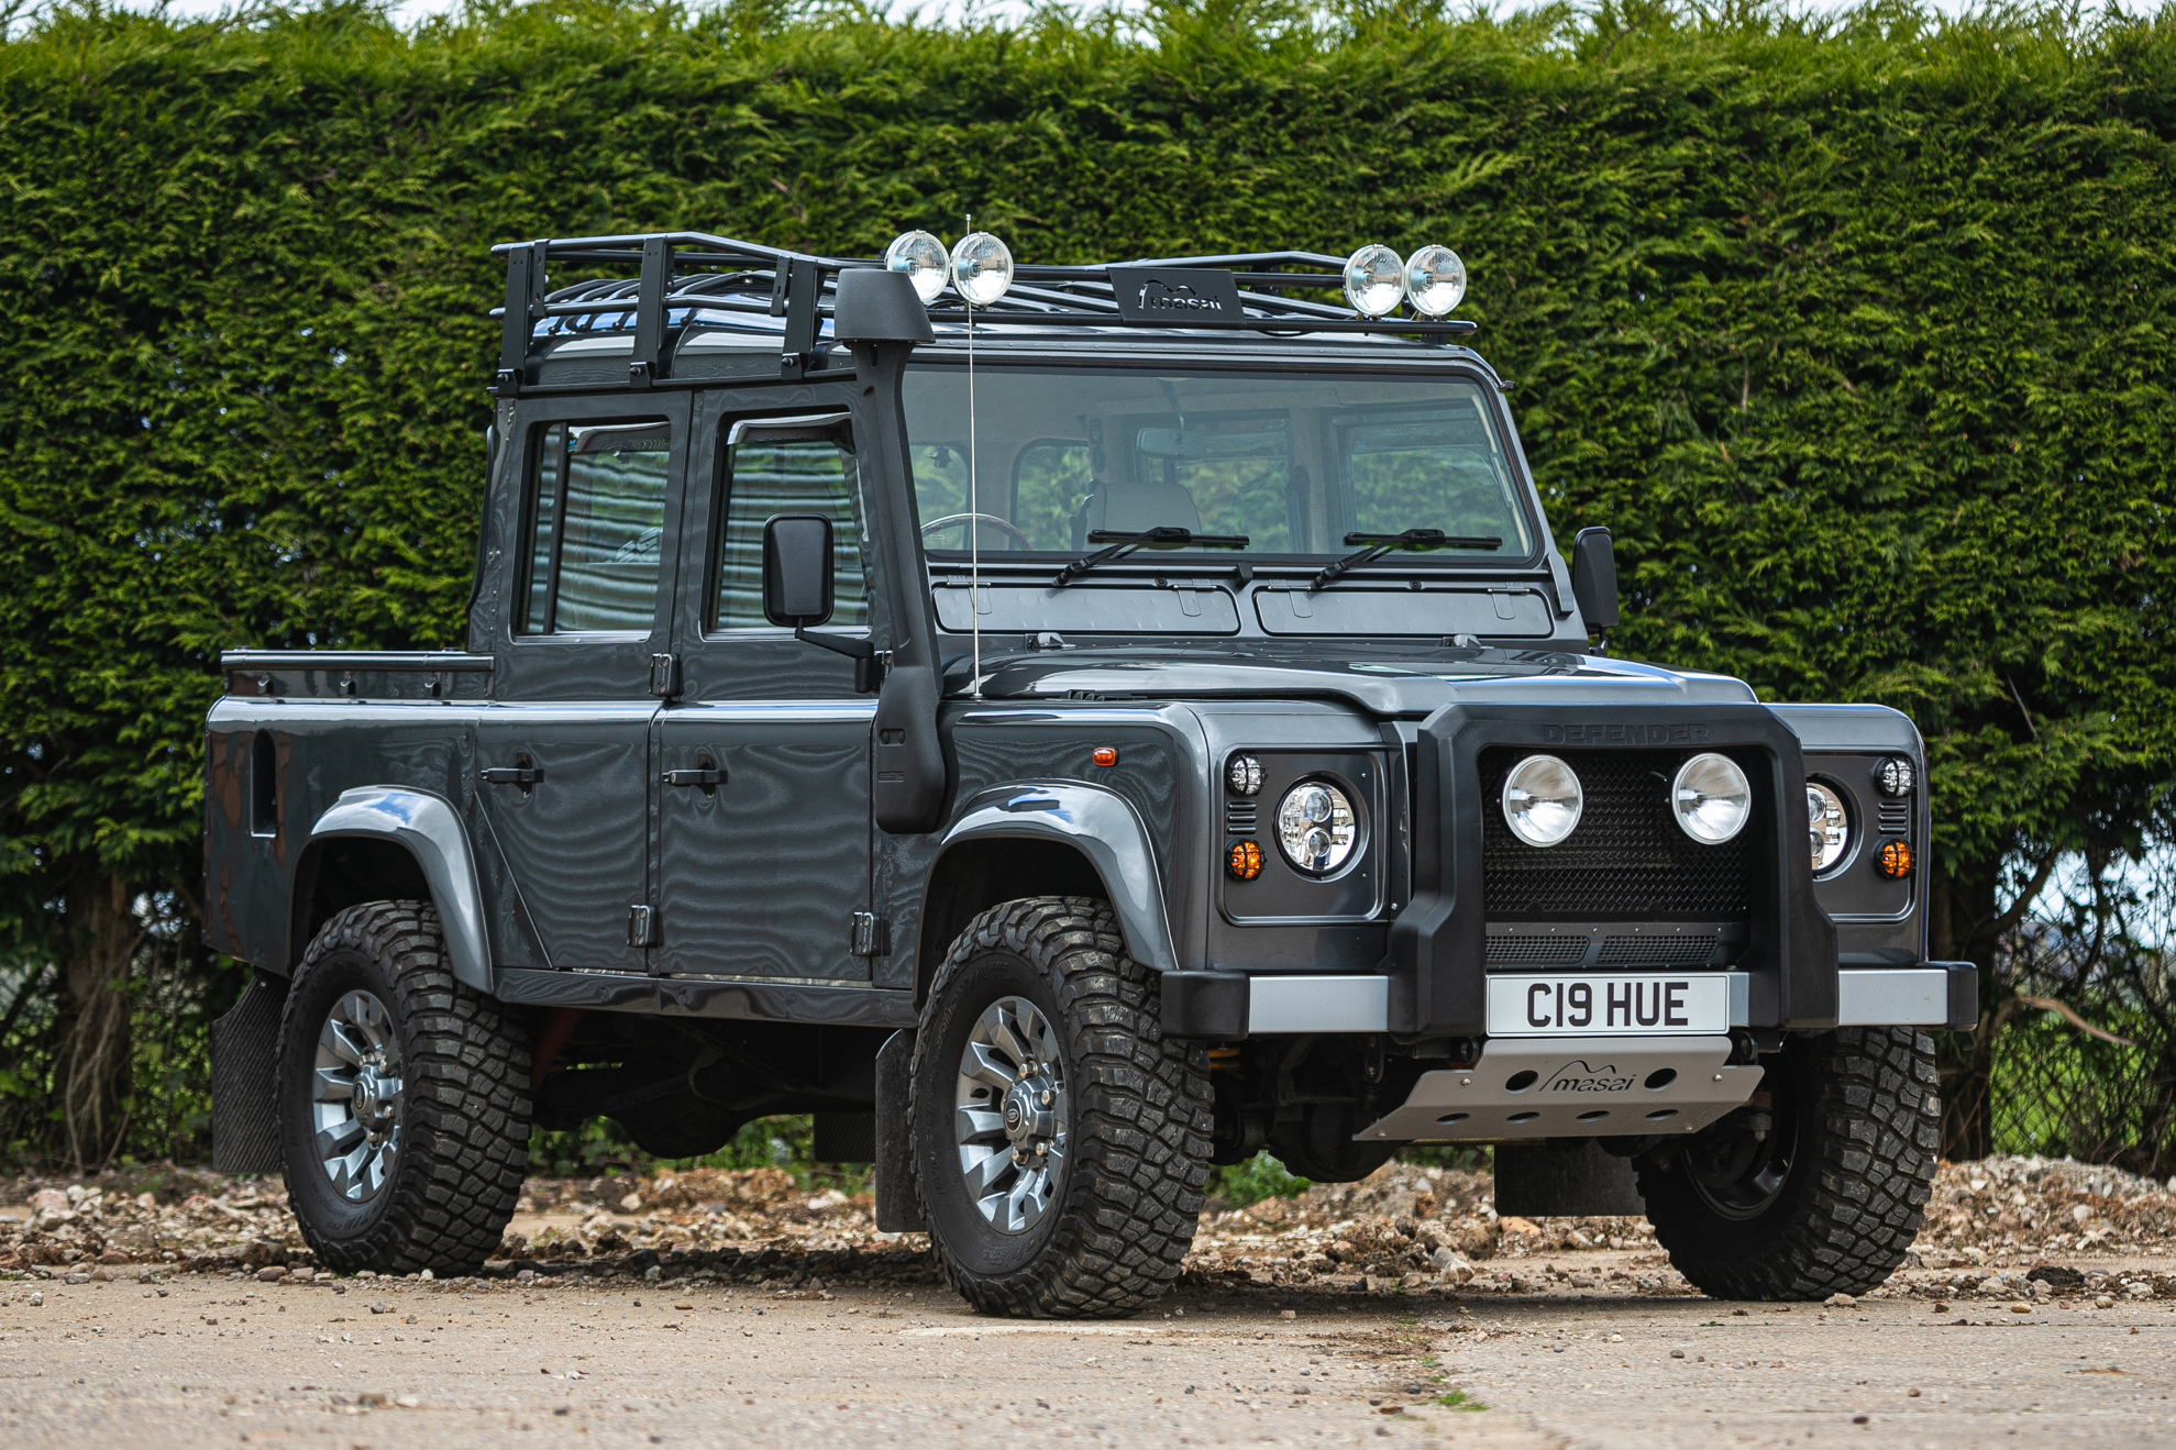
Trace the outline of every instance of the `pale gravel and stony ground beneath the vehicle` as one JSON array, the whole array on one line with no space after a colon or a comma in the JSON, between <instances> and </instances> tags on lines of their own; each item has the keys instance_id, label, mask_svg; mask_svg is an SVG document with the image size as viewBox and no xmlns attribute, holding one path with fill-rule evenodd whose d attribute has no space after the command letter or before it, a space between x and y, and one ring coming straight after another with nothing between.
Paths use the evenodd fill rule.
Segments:
<instances>
[{"instance_id":1,"label":"pale gravel and stony ground beneath the vehicle","mask_svg":"<svg viewBox=\"0 0 2176 1450\"><path fill-rule=\"evenodd\" d=\"M2156 1184L1945 1167L1917 1265L1791 1308L1486 1200L1393 1165L1206 1215L1140 1319L1018 1324L781 1171L537 1180L446 1282L320 1278L276 1180L0 1182L0 1443L2176 1443Z\"/></svg>"}]
</instances>

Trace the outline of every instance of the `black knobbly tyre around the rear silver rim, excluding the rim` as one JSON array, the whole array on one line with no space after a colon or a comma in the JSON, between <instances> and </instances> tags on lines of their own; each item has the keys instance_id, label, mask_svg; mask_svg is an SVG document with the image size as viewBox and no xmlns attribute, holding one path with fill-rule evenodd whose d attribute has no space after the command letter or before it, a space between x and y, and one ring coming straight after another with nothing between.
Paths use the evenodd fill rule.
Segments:
<instances>
[{"instance_id":1,"label":"black knobbly tyre around the rear silver rim, excluding the rim","mask_svg":"<svg viewBox=\"0 0 2176 1450\"><path fill-rule=\"evenodd\" d=\"M385 1187L350 1204L313 1150L311 1073L326 1015L357 988L392 1017L403 1104ZM437 908L366 901L324 923L287 991L276 1082L287 1195L318 1263L437 1276L483 1267L529 1167L529 1034L455 980Z\"/></svg>"}]
</instances>

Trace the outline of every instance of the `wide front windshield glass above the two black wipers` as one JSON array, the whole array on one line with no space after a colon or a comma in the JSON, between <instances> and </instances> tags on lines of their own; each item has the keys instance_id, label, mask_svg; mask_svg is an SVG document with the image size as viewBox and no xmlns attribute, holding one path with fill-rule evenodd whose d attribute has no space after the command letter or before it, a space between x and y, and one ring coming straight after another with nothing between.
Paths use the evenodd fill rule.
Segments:
<instances>
[{"instance_id":1,"label":"wide front windshield glass above the two black wipers","mask_svg":"<svg viewBox=\"0 0 2176 1450\"><path fill-rule=\"evenodd\" d=\"M1441 529L1534 553L1504 440L1475 383L1351 372L975 370L968 507L964 368L905 379L931 553L1079 553L1090 536L1177 527L1245 536L1251 555L1343 555L1347 533ZM1232 551L1219 549L1221 557Z\"/></svg>"}]
</instances>

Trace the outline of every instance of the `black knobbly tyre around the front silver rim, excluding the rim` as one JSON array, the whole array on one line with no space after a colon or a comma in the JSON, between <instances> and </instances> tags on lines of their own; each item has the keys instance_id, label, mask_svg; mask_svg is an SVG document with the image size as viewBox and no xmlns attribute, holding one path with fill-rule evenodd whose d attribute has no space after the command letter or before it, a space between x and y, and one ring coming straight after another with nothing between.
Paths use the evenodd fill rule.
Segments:
<instances>
[{"instance_id":1,"label":"black knobbly tyre around the front silver rim, excluding the rim","mask_svg":"<svg viewBox=\"0 0 2176 1450\"><path fill-rule=\"evenodd\" d=\"M968 1032L1005 995L1051 1019L1068 1097L1051 1208L1016 1237L977 1213L951 1130ZM1110 904L1029 897L986 910L929 988L907 1089L914 1195L944 1278L992 1315L1101 1319L1155 1302L1201 1215L1210 1102L1208 1052L1164 1039L1158 978L1127 956Z\"/></svg>"}]
</instances>

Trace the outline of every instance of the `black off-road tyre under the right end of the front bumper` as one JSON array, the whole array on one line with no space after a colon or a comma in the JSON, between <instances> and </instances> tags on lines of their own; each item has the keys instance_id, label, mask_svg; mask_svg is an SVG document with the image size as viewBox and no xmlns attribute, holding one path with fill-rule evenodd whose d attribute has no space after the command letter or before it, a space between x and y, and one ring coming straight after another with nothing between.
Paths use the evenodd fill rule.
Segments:
<instances>
[{"instance_id":1,"label":"black off-road tyre under the right end of the front bumper","mask_svg":"<svg viewBox=\"0 0 2176 1450\"><path fill-rule=\"evenodd\" d=\"M1791 1039L1763 1078L1778 1104L1776 1132L1791 1134L1789 1171L1763 1208L1719 1213L1686 1156L1669 1147L1634 1158L1671 1265L1719 1300L1826 1300L1884 1282L1904 1263L1932 1191L1934 1082L1934 1041L1915 1028ZM1743 1121L1732 1115L1708 1132L1743 1132Z\"/></svg>"}]
</instances>

